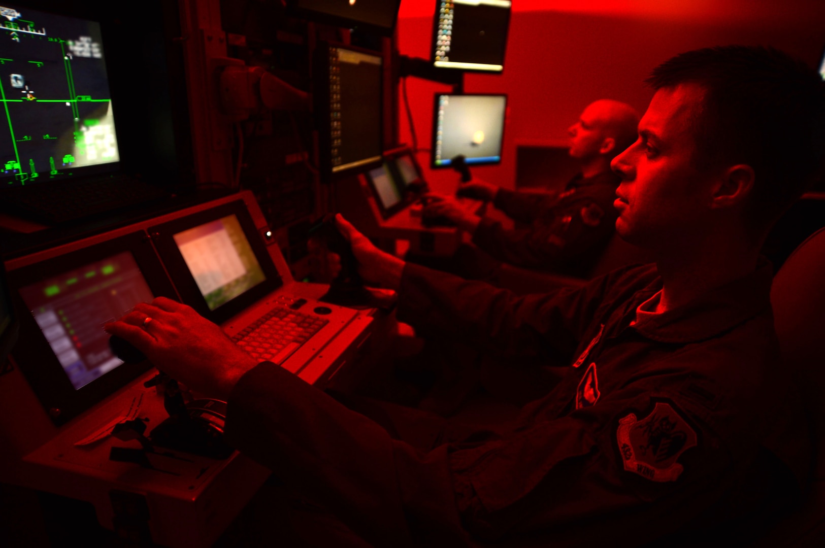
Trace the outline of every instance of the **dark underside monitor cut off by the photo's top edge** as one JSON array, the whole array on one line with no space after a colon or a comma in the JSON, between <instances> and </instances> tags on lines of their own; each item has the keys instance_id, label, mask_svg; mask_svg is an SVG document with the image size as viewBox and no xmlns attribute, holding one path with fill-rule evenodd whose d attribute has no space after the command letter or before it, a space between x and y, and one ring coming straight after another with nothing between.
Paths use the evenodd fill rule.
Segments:
<instances>
[{"instance_id":1,"label":"dark underside monitor cut off by the photo's top edge","mask_svg":"<svg viewBox=\"0 0 825 548\"><path fill-rule=\"evenodd\" d=\"M392 36L401 0L289 0L295 15Z\"/></svg>"}]
</instances>

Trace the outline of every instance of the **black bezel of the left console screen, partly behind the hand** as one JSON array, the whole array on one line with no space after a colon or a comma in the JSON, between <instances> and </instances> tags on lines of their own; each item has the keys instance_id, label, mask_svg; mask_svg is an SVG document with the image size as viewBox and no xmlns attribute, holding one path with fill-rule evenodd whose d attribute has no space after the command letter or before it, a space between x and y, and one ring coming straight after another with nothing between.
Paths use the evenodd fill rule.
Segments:
<instances>
[{"instance_id":1,"label":"black bezel of the left console screen, partly behind the hand","mask_svg":"<svg viewBox=\"0 0 825 548\"><path fill-rule=\"evenodd\" d=\"M172 283L169 283L163 265L143 231L131 232L8 272L12 302L20 321L20 337L12 356L47 415L58 426L111 396L153 365L148 360L140 363L123 363L75 390L18 289L124 251L131 252L155 297L177 300L175 289Z\"/></svg>"}]
</instances>

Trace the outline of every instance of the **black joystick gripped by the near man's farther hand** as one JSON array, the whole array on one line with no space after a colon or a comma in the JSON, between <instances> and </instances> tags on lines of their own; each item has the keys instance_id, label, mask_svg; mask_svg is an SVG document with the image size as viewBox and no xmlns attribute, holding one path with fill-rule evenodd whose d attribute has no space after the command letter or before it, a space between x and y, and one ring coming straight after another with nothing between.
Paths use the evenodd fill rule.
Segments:
<instances>
[{"instance_id":1,"label":"black joystick gripped by the near man's farther hand","mask_svg":"<svg viewBox=\"0 0 825 548\"><path fill-rule=\"evenodd\" d=\"M350 242L338 231L335 215L327 213L320 222L309 229L309 237L318 242L322 252L336 253L341 257L341 272L332 279L329 290L320 299L342 307L361 306L370 302L370 292L358 274L358 260L353 255Z\"/></svg>"}]
</instances>

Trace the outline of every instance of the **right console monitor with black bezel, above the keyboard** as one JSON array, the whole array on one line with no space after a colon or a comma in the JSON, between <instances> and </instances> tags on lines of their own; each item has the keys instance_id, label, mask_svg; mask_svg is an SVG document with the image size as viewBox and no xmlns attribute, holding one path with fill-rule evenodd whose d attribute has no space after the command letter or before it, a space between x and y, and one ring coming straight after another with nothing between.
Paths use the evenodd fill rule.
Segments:
<instances>
[{"instance_id":1,"label":"right console monitor with black bezel, above the keyboard","mask_svg":"<svg viewBox=\"0 0 825 548\"><path fill-rule=\"evenodd\" d=\"M280 288L243 201L149 228L181 300L216 323Z\"/></svg>"}]
</instances>

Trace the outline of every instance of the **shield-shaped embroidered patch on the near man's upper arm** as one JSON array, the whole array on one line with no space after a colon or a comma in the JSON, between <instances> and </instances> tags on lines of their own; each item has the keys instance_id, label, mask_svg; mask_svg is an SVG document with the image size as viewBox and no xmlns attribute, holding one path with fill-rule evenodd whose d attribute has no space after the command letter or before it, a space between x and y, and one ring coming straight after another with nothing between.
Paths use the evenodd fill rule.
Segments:
<instances>
[{"instance_id":1,"label":"shield-shaped embroidered patch on the near man's upper arm","mask_svg":"<svg viewBox=\"0 0 825 548\"><path fill-rule=\"evenodd\" d=\"M691 425L661 401L645 419L634 413L620 419L616 439L625 470L659 482L676 481L684 471L676 460L697 443Z\"/></svg>"}]
</instances>

